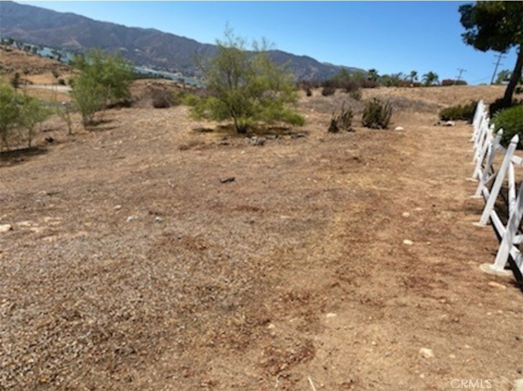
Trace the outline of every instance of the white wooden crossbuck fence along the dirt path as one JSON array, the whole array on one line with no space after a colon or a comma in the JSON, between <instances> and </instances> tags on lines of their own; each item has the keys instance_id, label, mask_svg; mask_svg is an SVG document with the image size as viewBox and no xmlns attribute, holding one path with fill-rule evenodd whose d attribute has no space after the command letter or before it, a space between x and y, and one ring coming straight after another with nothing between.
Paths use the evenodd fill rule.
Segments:
<instances>
[{"instance_id":1,"label":"white wooden crossbuck fence along the dirt path","mask_svg":"<svg viewBox=\"0 0 523 391\"><path fill-rule=\"evenodd\" d=\"M483 101L477 104L474 115L472 141L474 143L474 172L472 178L478 180L474 197L483 197L485 206L479 226L485 226L492 222L497 236L500 238L499 249L494 263L485 263L481 269L487 273L506 274L510 273L505 269L507 262L510 263L516 280L523 290L523 254L518 245L523 243L523 235L518 234L521 218L523 217L523 181L521 181L516 191L515 167L523 167L523 158L515 155L516 146L519 142L518 135L515 135L507 148L501 144L503 130L493 134L494 125L490 123L490 118L486 112ZM498 157L498 159L496 159ZM496 169L495 163L502 159L501 164ZM501 197L501 190L504 183L507 183L508 197L507 215L501 218L496 210L496 201ZM506 221L506 224L503 223Z\"/></svg>"}]
</instances>

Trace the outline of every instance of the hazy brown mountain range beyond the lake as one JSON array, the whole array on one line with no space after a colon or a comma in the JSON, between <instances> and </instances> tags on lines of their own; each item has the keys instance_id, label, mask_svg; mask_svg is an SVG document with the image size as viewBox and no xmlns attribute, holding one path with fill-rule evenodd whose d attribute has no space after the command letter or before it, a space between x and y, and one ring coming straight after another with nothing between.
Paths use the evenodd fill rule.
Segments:
<instances>
[{"instance_id":1,"label":"hazy brown mountain range beyond the lake","mask_svg":"<svg viewBox=\"0 0 523 391\"><path fill-rule=\"evenodd\" d=\"M195 56L212 55L217 49L215 45L155 29L126 27L10 1L0 2L0 37L77 52L90 48L120 51L137 66L179 72L189 77L198 76ZM288 62L299 80L326 79L342 68L309 56L279 50L268 53L276 63ZM344 68L349 72L362 71Z\"/></svg>"}]
</instances>

